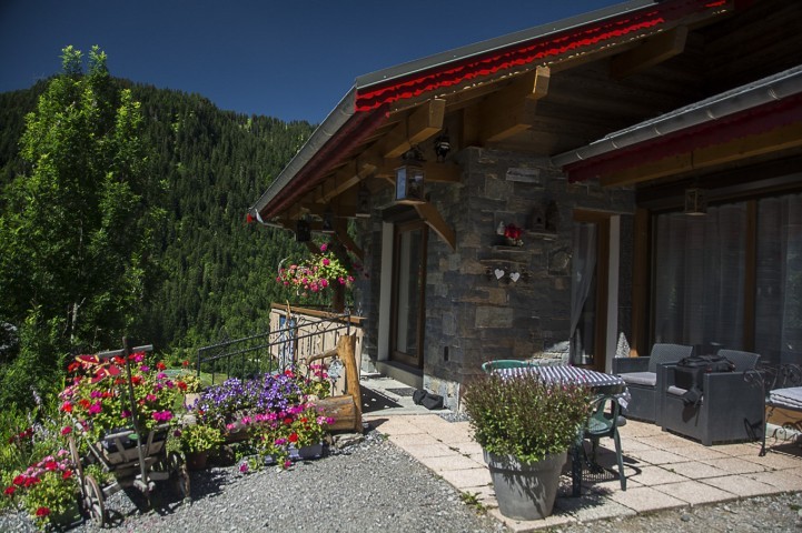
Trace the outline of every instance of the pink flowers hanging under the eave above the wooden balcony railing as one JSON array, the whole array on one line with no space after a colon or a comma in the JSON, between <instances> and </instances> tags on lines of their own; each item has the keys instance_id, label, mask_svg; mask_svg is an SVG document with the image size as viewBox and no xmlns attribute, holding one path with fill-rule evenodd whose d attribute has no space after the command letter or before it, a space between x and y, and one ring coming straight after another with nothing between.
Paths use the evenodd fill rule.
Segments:
<instances>
[{"instance_id":1,"label":"pink flowers hanging under the eave above the wooden balcony railing","mask_svg":"<svg viewBox=\"0 0 802 533\"><path fill-rule=\"evenodd\" d=\"M325 291L334 284L349 286L354 276L331 253L328 244L324 243L320 245L320 253L279 270L276 281L285 286L295 286L299 294L307 295L308 292Z\"/></svg>"}]
</instances>

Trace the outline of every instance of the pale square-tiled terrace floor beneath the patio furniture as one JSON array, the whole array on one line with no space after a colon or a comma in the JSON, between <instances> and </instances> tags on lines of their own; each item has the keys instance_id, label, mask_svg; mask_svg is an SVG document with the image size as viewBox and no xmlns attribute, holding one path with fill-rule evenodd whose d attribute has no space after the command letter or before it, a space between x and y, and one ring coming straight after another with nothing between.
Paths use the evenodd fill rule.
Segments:
<instances>
[{"instance_id":1,"label":"pale square-tiled terrace floor beneath the patio furniture","mask_svg":"<svg viewBox=\"0 0 802 533\"><path fill-rule=\"evenodd\" d=\"M613 441L603 439L605 447L600 449L598 463L611 471L585 471L582 495L572 497L566 465L552 516L512 520L498 512L482 447L473 441L467 422L449 422L436 411L415 405L409 388L393 380L367 379L362 383L365 422L458 491L477 494L491 515L514 532L802 491L799 445L772 442L769 453L761 457L760 443L703 446L656 425L630 420L620 429L626 491L621 490L615 473Z\"/></svg>"}]
</instances>

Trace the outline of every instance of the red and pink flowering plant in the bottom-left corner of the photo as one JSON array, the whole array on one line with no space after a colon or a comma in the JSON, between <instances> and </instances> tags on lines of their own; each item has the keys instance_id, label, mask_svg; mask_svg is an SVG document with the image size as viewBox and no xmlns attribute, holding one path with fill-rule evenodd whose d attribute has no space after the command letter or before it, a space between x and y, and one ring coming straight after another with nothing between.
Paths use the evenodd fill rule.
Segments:
<instances>
[{"instance_id":1,"label":"red and pink flowering plant in the bottom-left corner of the photo","mask_svg":"<svg viewBox=\"0 0 802 533\"><path fill-rule=\"evenodd\" d=\"M69 455L62 449L46 456L18 473L4 490L6 496L20 501L42 529L52 516L67 513L78 501L78 480Z\"/></svg>"}]
</instances>

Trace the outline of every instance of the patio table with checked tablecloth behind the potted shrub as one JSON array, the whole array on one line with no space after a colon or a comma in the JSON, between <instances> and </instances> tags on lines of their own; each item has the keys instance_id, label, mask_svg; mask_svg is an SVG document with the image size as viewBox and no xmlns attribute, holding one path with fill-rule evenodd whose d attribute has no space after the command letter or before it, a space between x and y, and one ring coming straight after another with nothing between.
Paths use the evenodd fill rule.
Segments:
<instances>
[{"instance_id":1,"label":"patio table with checked tablecloth behind the potted shrub","mask_svg":"<svg viewBox=\"0 0 802 533\"><path fill-rule=\"evenodd\" d=\"M502 376L516 376L535 373L543 378L547 383L578 383L587 385L593 393L597 395L612 394L618 400L622 406L626 406L628 393L626 383L621 376L606 374L595 370L583 369L580 366L521 366L514 369L499 369L495 371ZM576 444L571 450L571 494L580 496L582 490L582 463L580 460L582 435L584 429L580 430ZM623 472L620 473L623 475Z\"/></svg>"}]
</instances>

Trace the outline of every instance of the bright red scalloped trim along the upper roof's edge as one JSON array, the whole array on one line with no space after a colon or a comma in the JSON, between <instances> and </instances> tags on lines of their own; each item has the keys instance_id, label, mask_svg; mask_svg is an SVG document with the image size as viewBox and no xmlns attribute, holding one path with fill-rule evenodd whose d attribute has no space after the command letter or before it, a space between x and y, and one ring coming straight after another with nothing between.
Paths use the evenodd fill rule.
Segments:
<instances>
[{"instance_id":1,"label":"bright red scalloped trim along the upper roof's edge","mask_svg":"<svg viewBox=\"0 0 802 533\"><path fill-rule=\"evenodd\" d=\"M406 79L393 80L379 87L374 86L365 91L357 90L355 109L356 111L369 111L384 104L415 98L476 78L493 76L535 62L545 62L567 53L577 53L612 39L657 28L667 21L696 11L721 9L726 3L729 0L713 2L679 0L650 7L644 12L625 13L617 18L596 21L595 26L586 24L535 39L523 46L517 44L508 49L496 50L483 57L468 58L462 62L442 66L439 69L416 73Z\"/></svg>"}]
</instances>

